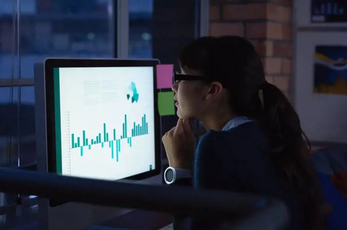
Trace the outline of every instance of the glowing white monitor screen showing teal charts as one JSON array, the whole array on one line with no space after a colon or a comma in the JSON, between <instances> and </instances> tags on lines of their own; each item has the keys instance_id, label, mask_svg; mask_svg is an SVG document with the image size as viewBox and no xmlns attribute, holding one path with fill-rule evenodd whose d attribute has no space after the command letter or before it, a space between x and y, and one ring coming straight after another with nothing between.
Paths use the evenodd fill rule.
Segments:
<instances>
[{"instance_id":1,"label":"glowing white monitor screen showing teal charts","mask_svg":"<svg viewBox=\"0 0 347 230\"><path fill-rule=\"evenodd\" d=\"M154 69L53 68L58 174L118 180L155 170Z\"/></svg>"}]
</instances>

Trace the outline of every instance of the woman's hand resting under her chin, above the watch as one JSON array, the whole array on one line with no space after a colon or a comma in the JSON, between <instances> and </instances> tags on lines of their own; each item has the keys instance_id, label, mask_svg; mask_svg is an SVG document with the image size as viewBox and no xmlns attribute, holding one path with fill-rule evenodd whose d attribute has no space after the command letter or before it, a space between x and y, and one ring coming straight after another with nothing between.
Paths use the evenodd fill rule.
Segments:
<instances>
[{"instance_id":1,"label":"woman's hand resting under her chin, above the watch","mask_svg":"<svg viewBox=\"0 0 347 230\"><path fill-rule=\"evenodd\" d=\"M179 118L177 125L162 138L169 165L191 169L194 159L194 131L188 119Z\"/></svg>"}]
</instances>

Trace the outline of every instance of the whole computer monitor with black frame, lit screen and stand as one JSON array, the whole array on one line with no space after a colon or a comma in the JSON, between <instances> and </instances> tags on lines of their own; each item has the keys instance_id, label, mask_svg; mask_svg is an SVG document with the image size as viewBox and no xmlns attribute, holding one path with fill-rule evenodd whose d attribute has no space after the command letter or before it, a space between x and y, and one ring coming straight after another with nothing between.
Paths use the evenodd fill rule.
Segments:
<instances>
[{"instance_id":1,"label":"whole computer monitor with black frame, lit screen and stand","mask_svg":"<svg viewBox=\"0 0 347 230\"><path fill-rule=\"evenodd\" d=\"M158 64L158 60L47 59L44 71L37 64L39 170L134 182L160 175ZM41 202L41 207L45 207L41 216L48 215L45 229L83 229L122 213L57 200ZM63 226L61 219L66 218L73 225Z\"/></svg>"}]
</instances>

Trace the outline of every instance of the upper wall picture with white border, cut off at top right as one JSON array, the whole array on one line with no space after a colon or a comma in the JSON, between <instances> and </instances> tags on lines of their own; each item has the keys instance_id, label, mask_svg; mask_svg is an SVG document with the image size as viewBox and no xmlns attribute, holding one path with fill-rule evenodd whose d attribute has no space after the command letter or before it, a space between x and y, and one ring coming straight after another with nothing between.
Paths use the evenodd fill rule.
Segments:
<instances>
[{"instance_id":1,"label":"upper wall picture with white border, cut off at top right","mask_svg":"<svg viewBox=\"0 0 347 230\"><path fill-rule=\"evenodd\" d=\"M346 0L296 0L296 24L309 26L347 26Z\"/></svg>"}]
</instances>

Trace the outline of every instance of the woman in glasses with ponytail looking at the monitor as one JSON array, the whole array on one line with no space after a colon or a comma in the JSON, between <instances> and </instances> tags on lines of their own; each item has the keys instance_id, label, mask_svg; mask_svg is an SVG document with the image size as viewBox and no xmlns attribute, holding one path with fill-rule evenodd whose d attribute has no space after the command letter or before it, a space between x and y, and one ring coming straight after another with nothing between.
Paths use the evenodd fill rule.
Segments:
<instances>
[{"instance_id":1,"label":"woman in glasses with ponytail looking at the monitor","mask_svg":"<svg viewBox=\"0 0 347 230\"><path fill-rule=\"evenodd\" d=\"M199 38L181 51L179 63L182 73L172 85L179 121L162 138L169 165L186 170L194 165L197 189L283 200L289 229L325 229L324 195L298 114L266 82L252 44L236 36ZM195 154L190 119L208 130ZM194 219L191 228L216 225Z\"/></svg>"}]
</instances>

